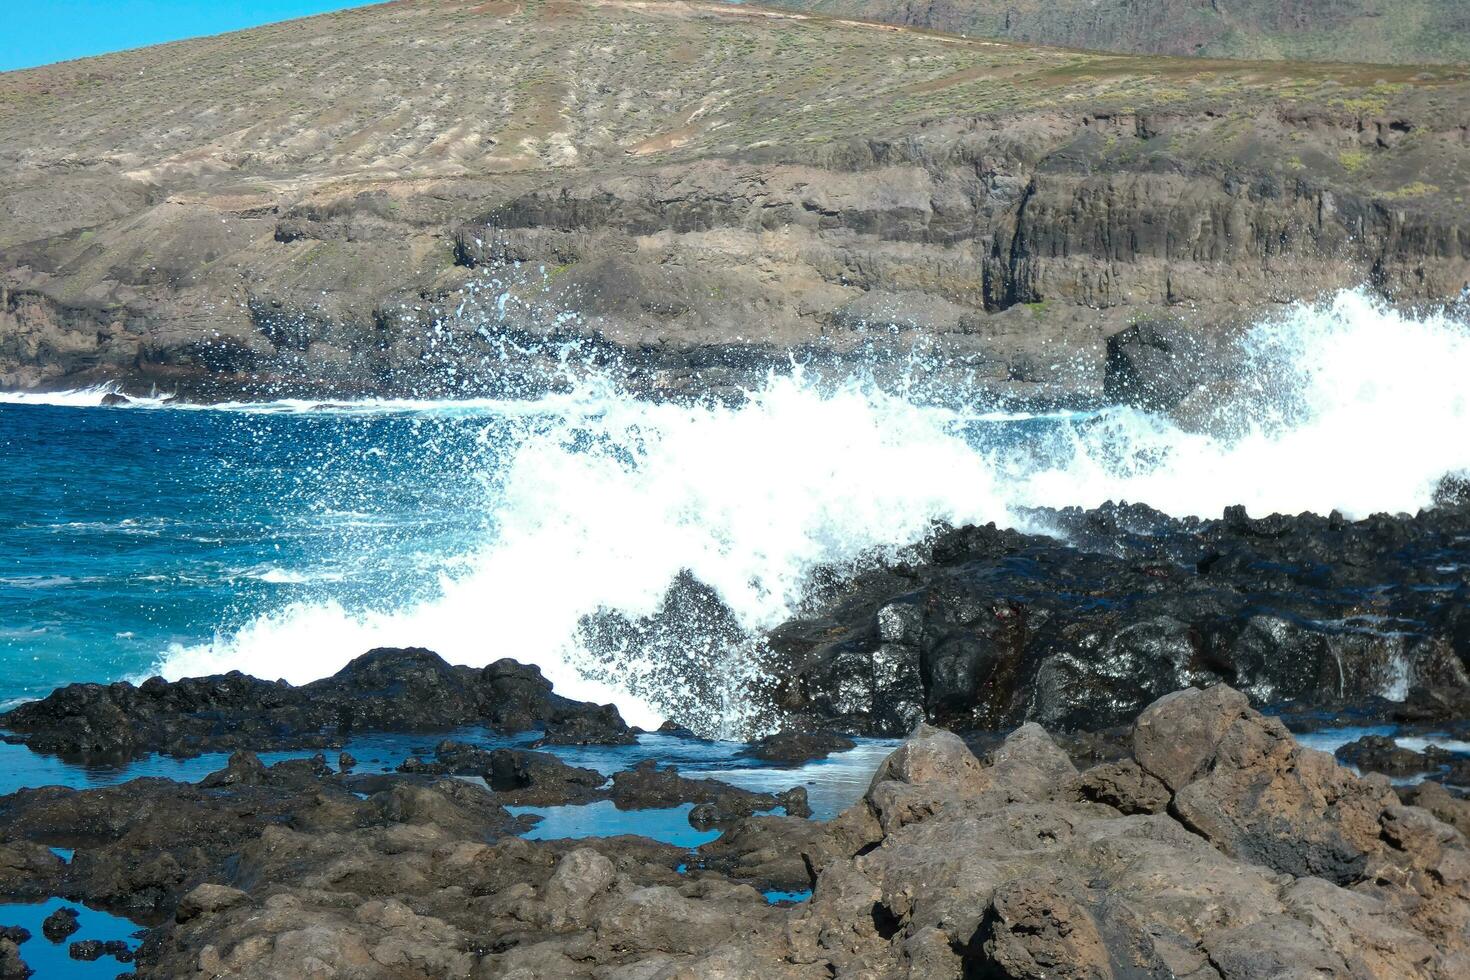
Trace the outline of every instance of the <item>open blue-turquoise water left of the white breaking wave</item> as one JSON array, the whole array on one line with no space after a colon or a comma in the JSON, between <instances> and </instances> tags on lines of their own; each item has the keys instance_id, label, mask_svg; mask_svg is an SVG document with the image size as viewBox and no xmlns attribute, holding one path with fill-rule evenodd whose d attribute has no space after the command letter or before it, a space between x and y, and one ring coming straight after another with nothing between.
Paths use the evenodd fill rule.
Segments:
<instances>
[{"instance_id":1,"label":"open blue-turquoise water left of the white breaking wave","mask_svg":"<svg viewBox=\"0 0 1470 980\"><path fill-rule=\"evenodd\" d=\"M0 404L0 704L291 602L431 592L485 533L494 425Z\"/></svg>"}]
</instances>

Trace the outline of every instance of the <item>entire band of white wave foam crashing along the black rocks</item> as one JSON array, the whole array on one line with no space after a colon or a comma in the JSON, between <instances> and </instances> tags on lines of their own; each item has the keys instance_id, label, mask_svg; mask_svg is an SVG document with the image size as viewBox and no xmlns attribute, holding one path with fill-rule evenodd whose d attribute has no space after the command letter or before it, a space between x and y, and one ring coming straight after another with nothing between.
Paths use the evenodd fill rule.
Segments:
<instances>
[{"instance_id":1,"label":"entire band of white wave foam crashing along the black rocks","mask_svg":"<svg viewBox=\"0 0 1470 980\"><path fill-rule=\"evenodd\" d=\"M816 567L900 548L933 520L1014 523L1020 507L1105 500L1179 516L1242 502L1257 514L1413 511L1444 473L1470 469L1463 325L1351 292L1264 323L1245 345L1252 373L1232 436L1110 408L1054 419L1039 442L983 442L973 432L983 410L800 373L739 407L651 404L607 388L478 406L553 422L497 447L509 463L487 480L494 536L445 555L456 567L432 598L285 605L169 649L162 670L304 682L370 646L422 645L465 664L539 664L562 693L614 701L648 726L685 713L691 689L656 682L662 666L647 651L594 670L579 624L597 610L654 613L682 572L756 633L791 616ZM738 677L738 657L729 671Z\"/></svg>"}]
</instances>

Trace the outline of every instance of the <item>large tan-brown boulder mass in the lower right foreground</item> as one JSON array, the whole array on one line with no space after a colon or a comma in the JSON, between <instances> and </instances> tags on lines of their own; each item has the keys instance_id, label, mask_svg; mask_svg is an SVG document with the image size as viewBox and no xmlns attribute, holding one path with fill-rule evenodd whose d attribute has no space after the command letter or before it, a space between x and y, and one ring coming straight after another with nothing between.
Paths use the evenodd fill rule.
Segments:
<instances>
[{"instance_id":1,"label":"large tan-brown boulder mass in the lower right foreground","mask_svg":"<svg viewBox=\"0 0 1470 980\"><path fill-rule=\"evenodd\" d=\"M1464 968L1466 840L1382 779L1302 749L1226 688L1152 705L1135 743L1138 758L1041 798L1033 773L1001 765L980 770L983 786L950 765L941 788L936 770L907 782L885 767L838 821L857 829L851 857L826 858L788 927L797 961L836 976L1038 980ZM935 805L885 823L891 799L920 789Z\"/></svg>"}]
</instances>

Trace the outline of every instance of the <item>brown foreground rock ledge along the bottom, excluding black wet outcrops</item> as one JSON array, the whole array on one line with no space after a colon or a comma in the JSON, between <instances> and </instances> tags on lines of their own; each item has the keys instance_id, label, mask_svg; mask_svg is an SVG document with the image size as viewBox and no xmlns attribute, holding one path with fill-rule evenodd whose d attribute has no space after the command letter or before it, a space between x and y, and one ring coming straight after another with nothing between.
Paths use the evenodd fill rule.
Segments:
<instances>
[{"instance_id":1,"label":"brown foreground rock ledge along the bottom, excluding black wet outcrops","mask_svg":"<svg viewBox=\"0 0 1470 980\"><path fill-rule=\"evenodd\" d=\"M121 817L93 821L82 871L51 871L115 896L147 877L166 899L140 977L1470 976L1470 846L1388 779L1302 748L1223 685L1157 699L1127 745L1079 771L1035 723L983 760L922 724L833 821L747 817L698 855L506 836L469 783L357 801L297 767L185 788L197 807L254 793L253 811L272 782L288 788L268 826L196 848L187 871L150 860ZM0 890L26 861L44 871L32 824L12 817L62 804L46 792L0 799ZM122 840L138 849L106 873ZM806 902L757 890L794 874Z\"/></svg>"}]
</instances>

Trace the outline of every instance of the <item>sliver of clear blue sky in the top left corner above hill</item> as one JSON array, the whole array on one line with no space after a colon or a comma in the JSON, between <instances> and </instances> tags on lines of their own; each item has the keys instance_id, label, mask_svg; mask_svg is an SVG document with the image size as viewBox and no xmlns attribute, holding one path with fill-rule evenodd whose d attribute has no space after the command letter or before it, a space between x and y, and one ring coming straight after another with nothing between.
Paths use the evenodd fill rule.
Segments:
<instances>
[{"instance_id":1,"label":"sliver of clear blue sky in the top left corner above hill","mask_svg":"<svg viewBox=\"0 0 1470 980\"><path fill-rule=\"evenodd\" d=\"M0 72L375 0L0 0Z\"/></svg>"}]
</instances>

